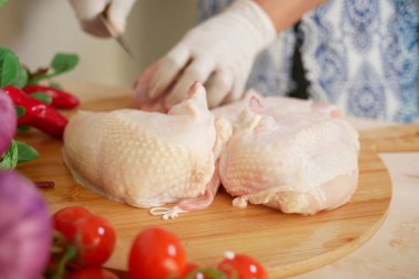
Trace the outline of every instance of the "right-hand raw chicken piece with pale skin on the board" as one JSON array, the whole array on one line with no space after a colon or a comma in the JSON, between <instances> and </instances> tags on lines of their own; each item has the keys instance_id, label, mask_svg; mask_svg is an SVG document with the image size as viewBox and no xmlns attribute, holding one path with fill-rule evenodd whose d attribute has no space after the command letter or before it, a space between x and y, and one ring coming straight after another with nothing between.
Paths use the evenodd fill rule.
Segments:
<instances>
[{"instance_id":1,"label":"right-hand raw chicken piece with pale skin on the board","mask_svg":"<svg viewBox=\"0 0 419 279\"><path fill-rule=\"evenodd\" d=\"M345 204L354 193L358 136L335 107L250 93L213 112L235 122L219 159L235 206L250 202L314 214Z\"/></svg>"}]
</instances>

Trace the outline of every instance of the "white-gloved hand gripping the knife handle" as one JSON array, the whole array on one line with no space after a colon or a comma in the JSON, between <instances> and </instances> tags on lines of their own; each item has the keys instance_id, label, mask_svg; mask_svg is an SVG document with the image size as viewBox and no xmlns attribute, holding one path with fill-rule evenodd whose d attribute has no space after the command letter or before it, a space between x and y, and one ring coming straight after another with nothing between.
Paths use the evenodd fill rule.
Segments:
<instances>
[{"instance_id":1,"label":"white-gloved hand gripping the knife handle","mask_svg":"<svg viewBox=\"0 0 419 279\"><path fill-rule=\"evenodd\" d=\"M118 33L123 33L127 17L136 0L69 0L82 28L96 36L110 36L98 15L105 17Z\"/></svg>"}]
</instances>

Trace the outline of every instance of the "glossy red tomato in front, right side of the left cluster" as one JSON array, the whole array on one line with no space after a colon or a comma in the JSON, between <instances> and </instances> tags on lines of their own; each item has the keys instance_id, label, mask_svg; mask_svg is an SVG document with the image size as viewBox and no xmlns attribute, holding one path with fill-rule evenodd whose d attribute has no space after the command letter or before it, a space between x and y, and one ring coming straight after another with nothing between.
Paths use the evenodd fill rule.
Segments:
<instances>
[{"instance_id":1,"label":"glossy red tomato in front, right side of the left cluster","mask_svg":"<svg viewBox=\"0 0 419 279\"><path fill-rule=\"evenodd\" d=\"M106 219L95 215L77 219L75 227L73 244L77 249L76 261L86 267L103 265L114 251L114 227Z\"/></svg>"}]
</instances>

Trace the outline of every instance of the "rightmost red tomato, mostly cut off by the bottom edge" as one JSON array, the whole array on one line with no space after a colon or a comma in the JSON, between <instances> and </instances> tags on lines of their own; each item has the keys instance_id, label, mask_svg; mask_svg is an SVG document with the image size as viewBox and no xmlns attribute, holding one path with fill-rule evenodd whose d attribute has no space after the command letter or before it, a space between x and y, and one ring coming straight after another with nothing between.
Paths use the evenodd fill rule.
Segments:
<instances>
[{"instance_id":1,"label":"rightmost red tomato, mostly cut off by the bottom edge","mask_svg":"<svg viewBox=\"0 0 419 279\"><path fill-rule=\"evenodd\" d=\"M219 262L218 269L232 278L234 271L237 279L268 279L265 268L249 256L227 253L226 258Z\"/></svg>"}]
</instances>

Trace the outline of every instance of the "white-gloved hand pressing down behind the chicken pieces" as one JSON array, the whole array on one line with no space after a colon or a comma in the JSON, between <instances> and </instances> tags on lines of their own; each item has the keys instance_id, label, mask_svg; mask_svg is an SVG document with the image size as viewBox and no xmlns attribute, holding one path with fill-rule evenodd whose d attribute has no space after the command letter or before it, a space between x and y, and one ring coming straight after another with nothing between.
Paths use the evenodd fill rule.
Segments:
<instances>
[{"instance_id":1,"label":"white-gloved hand pressing down behind the chicken pieces","mask_svg":"<svg viewBox=\"0 0 419 279\"><path fill-rule=\"evenodd\" d=\"M137 81L135 101L139 107L159 103L169 109L185 97L194 82L205 84L210 107L236 100L244 93L256 55L275 36L272 21L256 2L237 0L189 31L151 65Z\"/></svg>"}]
</instances>

